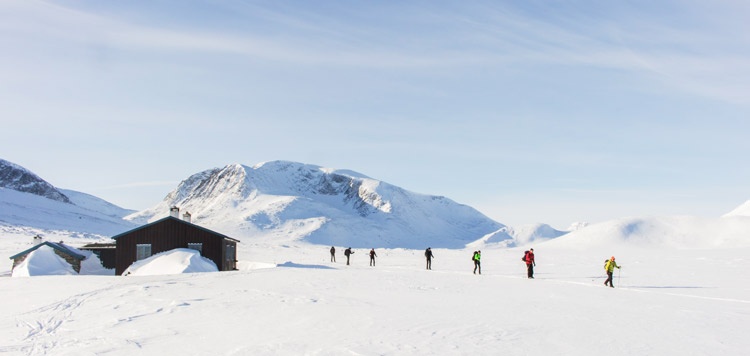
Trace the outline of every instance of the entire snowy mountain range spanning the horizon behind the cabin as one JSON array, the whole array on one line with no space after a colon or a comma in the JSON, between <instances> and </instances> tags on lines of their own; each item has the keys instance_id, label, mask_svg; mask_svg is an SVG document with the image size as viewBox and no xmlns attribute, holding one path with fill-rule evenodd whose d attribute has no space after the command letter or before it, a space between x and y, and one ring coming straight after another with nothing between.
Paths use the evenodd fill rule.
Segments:
<instances>
[{"instance_id":1,"label":"entire snowy mountain range spanning the horizon behind the cabin","mask_svg":"<svg viewBox=\"0 0 750 356\"><path fill-rule=\"evenodd\" d=\"M546 224L510 227L448 198L409 192L354 171L269 161L198 172L161 202L136 212L93 195L56 188L8 161L0 163L4 178L0 227L11 229L26 226L112 236L166 216L177 205L192 212L196 224L246 241L282 245L295 241L394 248L750 245L744 237L750 231L750 202L720 218L633 217L574 224L569 231ZM50 198L45 192L58 192L67 199L55 199L56 194Z\"/></svg>"}]
</instances>

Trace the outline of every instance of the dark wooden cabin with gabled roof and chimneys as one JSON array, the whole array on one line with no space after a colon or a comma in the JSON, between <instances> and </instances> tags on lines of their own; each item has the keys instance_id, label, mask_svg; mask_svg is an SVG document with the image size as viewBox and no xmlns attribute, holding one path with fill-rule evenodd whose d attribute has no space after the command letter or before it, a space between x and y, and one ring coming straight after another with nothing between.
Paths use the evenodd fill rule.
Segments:
<instances>
[{"instance_id":1,"label":"dark wooden cabin with gabled roof and chimneys","mask_svg":"<svg viewBox=\"0 0 750 356\"><path fill-rule=\"evenodd\" d=\"M212 260L220 271L237 269L238 240L175 216L143 225L112 239L117 245L117 275L122 275L135 261L176 248L200 251L201 256Z\"/></svg>"}]
</instances>

